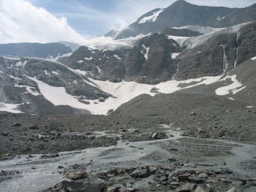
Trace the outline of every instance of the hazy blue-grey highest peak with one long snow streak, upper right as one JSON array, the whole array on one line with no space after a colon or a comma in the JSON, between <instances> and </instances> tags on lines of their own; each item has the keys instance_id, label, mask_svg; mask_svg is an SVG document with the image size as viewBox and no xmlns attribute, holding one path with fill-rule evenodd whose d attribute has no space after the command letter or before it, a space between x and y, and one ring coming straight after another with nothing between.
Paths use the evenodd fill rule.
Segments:
<instances>
[{"instance_id":1,"label":"hazy blue-grey highest peak with one long snow streak, upper right","mask_svg":"<svg viewBox=\"0 0 256 192\"><path fill-rule=\"evenodd\" d=\"M230 27L240 23L250 22L256 19L256 4L242 9L230 9L227 7L208 7L192 5L184 0L173 3L170 7L163 9L155 20L141 22L147 16L154 15L161 11L155 9L144 14L136 22L130 24L129 28L121 32L109 32L106 36L123 39L138 34L149 34L160 32L166 27L181 26L208 26L214 28Z\"/></svg>"}]
</instances>

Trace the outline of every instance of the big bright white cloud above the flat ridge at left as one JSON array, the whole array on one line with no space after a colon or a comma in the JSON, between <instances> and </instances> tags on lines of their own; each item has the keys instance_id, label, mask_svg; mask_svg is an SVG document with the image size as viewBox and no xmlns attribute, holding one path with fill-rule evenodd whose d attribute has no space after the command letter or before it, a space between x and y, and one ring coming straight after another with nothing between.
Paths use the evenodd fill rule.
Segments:
<instances>
[{"instance_id":1,"label":"big bright white cloud above the flat ridge at left","mask_svg":"<svg viewBox=\"0 0 256 192\"><path fill-rule=\"evenodd\" d=\"M84 41L64 17L25 0L0 0L0 43Z\"/></svg>"}]
</instances>

